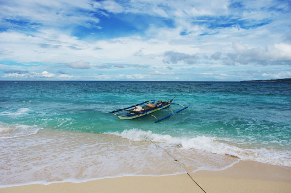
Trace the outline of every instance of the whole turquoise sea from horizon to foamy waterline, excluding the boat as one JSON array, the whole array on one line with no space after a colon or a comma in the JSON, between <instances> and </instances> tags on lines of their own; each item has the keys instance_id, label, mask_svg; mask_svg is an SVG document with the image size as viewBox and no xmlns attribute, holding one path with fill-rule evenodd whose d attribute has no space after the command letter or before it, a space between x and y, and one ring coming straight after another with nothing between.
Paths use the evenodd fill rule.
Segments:
<instances>
[{"instance_id":1,"label":"whole turquoise sea from horizon to foamy waterline, excluding the boat","mask_svg":"<svg viewBox=\"0 0 291 193\"><path fill-rule=\"evenodd\" d=\"M188 108L158 123L108 113L175 96ZM279 82L0 81L0 187L184 173L168 154L190 172L291 167L290 96Z\"/></svg>"}]
</instances>

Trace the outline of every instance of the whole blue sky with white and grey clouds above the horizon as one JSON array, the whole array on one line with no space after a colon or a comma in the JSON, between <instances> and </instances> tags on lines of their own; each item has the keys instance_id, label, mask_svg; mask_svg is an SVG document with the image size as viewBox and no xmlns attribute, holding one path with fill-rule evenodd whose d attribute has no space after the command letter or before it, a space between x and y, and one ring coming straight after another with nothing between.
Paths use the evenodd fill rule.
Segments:
<instances>
[{"instance_id":1,"label":"whole blue sky with white and grey clouds above the horizon","mask_svg":"<svg viewBox=\"0 0 291 193\"><path fill-rule=\"evenodd\" d=\"M290 1L2 0L0 80L291 78Z\"/></svg>"}]
</instances>

